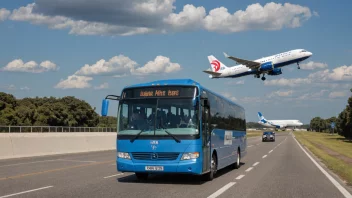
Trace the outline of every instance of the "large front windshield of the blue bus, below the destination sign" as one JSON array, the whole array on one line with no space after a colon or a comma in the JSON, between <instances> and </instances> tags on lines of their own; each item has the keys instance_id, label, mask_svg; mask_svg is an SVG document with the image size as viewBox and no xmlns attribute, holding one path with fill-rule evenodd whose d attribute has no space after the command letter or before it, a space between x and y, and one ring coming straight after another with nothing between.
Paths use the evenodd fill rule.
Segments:
<instances>
[{"instance_id":1,"label":"large front windshield of the blue bus, below the destination sign","mask_svg":"<svg viewBox=\"0 0 352 198\"><path fill-rule=\"evenodd\" d=\"M187 98L126 99L119 104L118 135L197 135L198 108Z\"/></svg>"}]
</instances>

